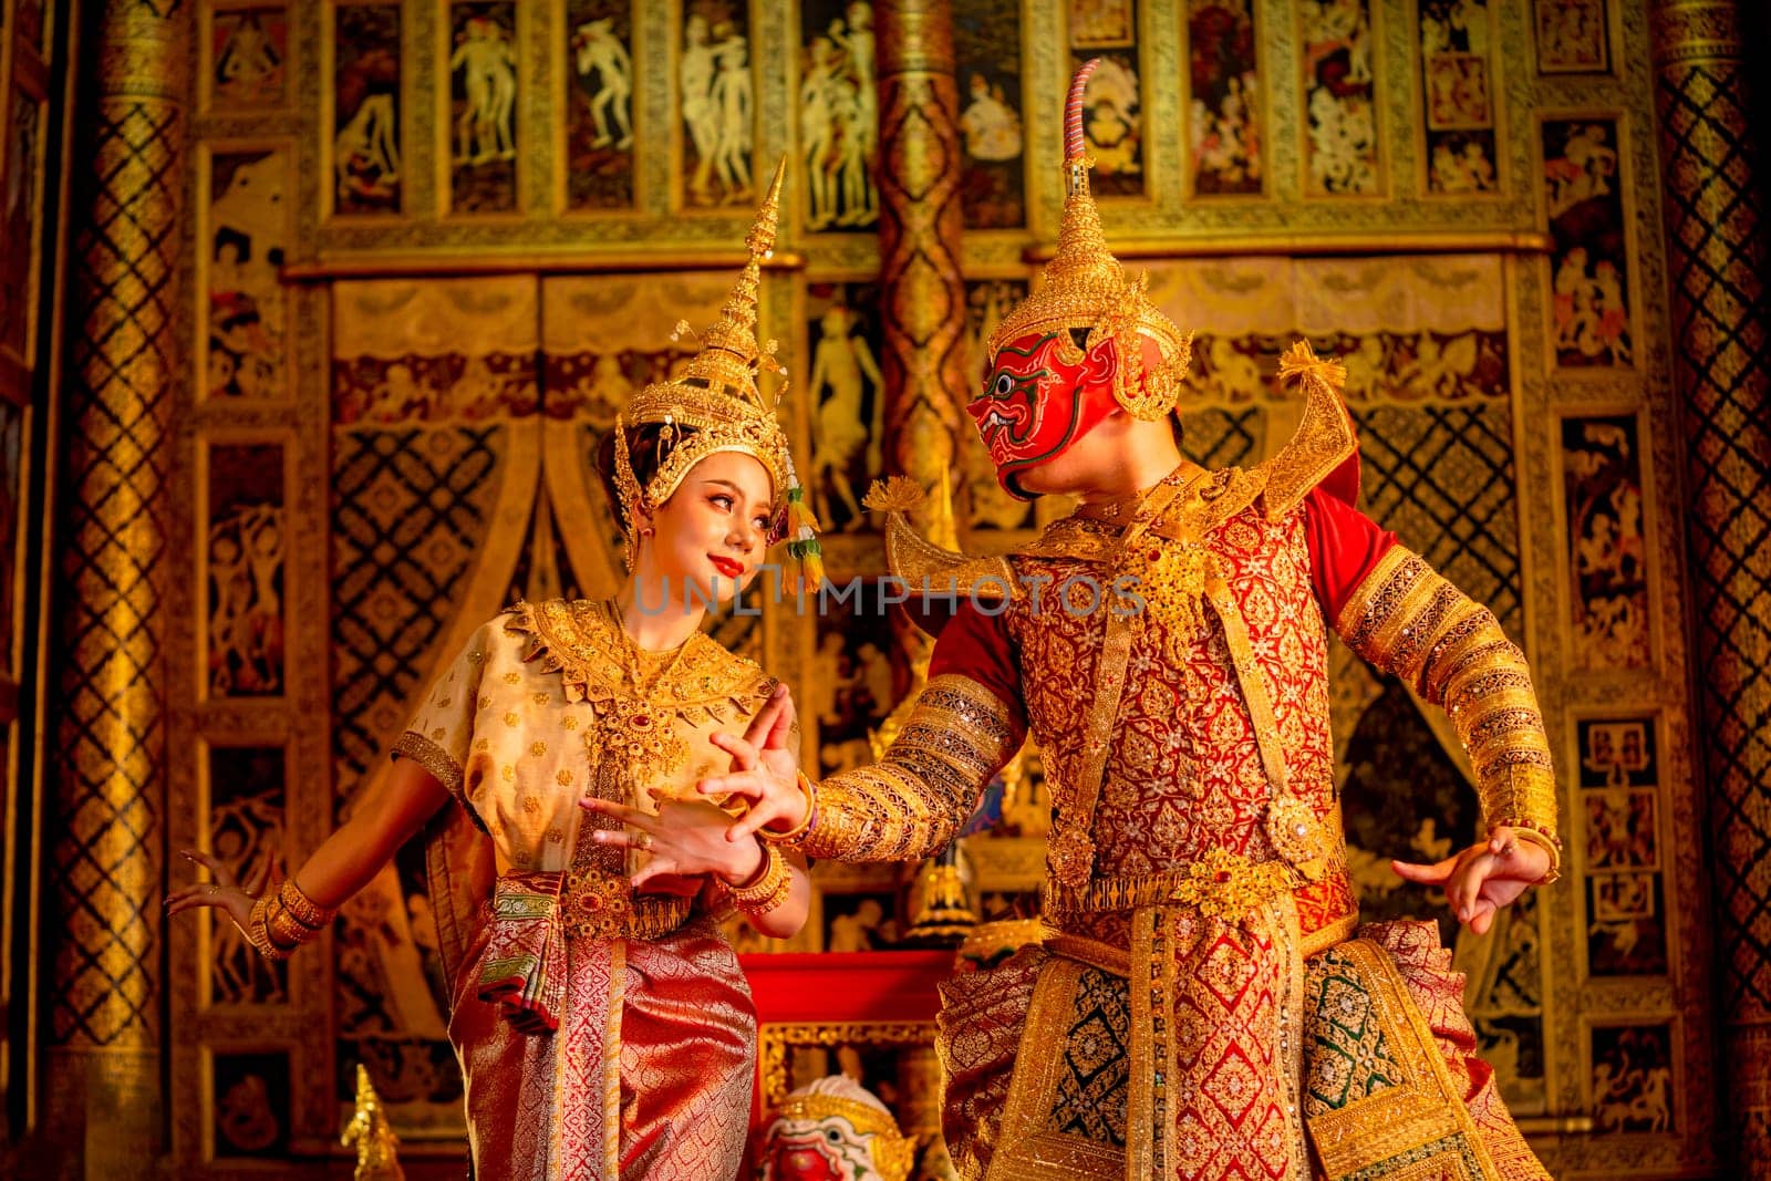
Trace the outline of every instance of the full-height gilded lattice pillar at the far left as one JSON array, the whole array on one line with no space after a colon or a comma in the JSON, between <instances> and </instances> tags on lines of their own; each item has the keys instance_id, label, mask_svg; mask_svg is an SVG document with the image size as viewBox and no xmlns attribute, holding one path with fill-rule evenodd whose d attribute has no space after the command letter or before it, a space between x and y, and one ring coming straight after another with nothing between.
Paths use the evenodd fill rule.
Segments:
<instances>
[{"instance_id":1,"label":"full-height gilded lattice pillar at the far left","mask_svg":"<svg viewBox=\"0 0 1771 1181\"><path fill-rule=\"evenodd\" d=\"M44 1133L74 1176L151 1176L165 1146L161 604L193 7L108 0L81 62L46 832Z\"/></svg>"}]
</instances>

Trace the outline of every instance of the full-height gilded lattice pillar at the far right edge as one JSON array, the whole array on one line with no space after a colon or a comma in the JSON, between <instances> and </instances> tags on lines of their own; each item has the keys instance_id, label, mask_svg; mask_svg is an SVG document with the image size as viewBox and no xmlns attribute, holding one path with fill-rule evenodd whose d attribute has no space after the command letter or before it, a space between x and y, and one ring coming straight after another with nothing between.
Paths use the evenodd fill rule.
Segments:
<instances>
[{"instance_id":1,"label":"full-height gilded lattice pillar at the far right edge","mask_svg":"<svg viewBox=\"0 0 1771 1181\"><path fill-rule=\"evenodd\" d=\"M1741 1177L1771 1177L1771 306L1764 184L1736 0L1656 0L1672 342L1684 404L1702 726L1714 832L1723 1094Z\"/></svg>"}]
</instances>

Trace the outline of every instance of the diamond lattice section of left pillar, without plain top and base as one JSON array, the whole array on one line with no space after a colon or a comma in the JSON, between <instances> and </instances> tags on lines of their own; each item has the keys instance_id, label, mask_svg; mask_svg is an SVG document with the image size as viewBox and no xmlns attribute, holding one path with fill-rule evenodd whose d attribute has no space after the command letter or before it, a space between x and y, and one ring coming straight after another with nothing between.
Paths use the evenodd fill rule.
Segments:
<instances>
[{"instance_id":1,"label":"diamond lattice section of left pillar, without plain top and base","mask_svg":"<svg viewBox=\"0 0 1771 1181\"><path fill-rule=\"evenodd\" d=\"M96 119L90 225L74 276L74 382L62 485L62 701L51 882L60 944L51 1036L158 1038L159 816L166 685L172 267L182 115L108 99Z\"/></svg>"}]
</instances>

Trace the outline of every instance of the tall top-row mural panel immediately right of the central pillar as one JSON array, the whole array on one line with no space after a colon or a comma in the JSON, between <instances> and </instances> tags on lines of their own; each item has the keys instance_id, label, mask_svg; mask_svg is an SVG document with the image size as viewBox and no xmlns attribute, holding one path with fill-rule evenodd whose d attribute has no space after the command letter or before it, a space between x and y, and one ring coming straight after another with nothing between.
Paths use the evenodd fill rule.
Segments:
<instances>
[{"instance_id":1,"label":"tall top-row mural panel immediately right of the central pillar","mask_svg":"<svg viewBox=\"0 0 1771 1181\"><path fill-rule=\"evenodd\" d=\"M953 14L960 83L960 200L969 230L1027 223L1020 94L1020 4L979 0Z\"/></svg>"}]
</instances>

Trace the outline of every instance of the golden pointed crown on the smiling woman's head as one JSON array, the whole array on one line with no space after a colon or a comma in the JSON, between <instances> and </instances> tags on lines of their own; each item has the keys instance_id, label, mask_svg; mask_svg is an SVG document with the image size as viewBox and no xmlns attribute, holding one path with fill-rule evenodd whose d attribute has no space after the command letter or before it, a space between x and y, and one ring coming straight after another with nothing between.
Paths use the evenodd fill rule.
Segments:
<instances>
[{"instance_id":1,"label":"golden pointed crown on the smiling woman's head","mask_svg":"<svg viewBox=\"0 0 1771 1181\"><path fill-rule=\"evenodd\" d=\"M783 158L744 239L751 259L726 296L719 320L701 333L701 351L677 377L653 382L634 395L627 413L615 423L615 482L630 529L636 528L634 508L657 508L671 498L691 467L719 452L740 452L760 460L769 469L776 496L795 485L786 432L776 418L774 402L763 397L756 381L760 368L781 372L774 359L776 342L756 342L756 290L762 285L763 259L774 251L785 175ZM685 322L677 324L677 335L685 331ZM659 436L657 475L641 489L627 453L625 427L646 423L662 423L664 432ZM682 434L678 427L692 430Z\"/></svg>"}]
</instances>

